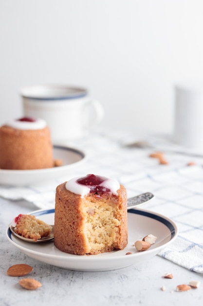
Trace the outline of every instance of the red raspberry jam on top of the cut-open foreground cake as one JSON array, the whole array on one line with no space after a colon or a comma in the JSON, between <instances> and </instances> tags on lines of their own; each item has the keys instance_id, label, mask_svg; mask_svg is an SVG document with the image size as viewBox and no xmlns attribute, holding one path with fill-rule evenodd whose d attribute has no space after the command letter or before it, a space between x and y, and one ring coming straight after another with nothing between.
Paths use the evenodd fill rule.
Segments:
<instances>
[{"instance_id":1,"label":"red raspberry jam on top of the cut-open foreground cake","mask_svg":"<svg viewBox=\"0 0 203 306\"><path fill-rule=\"evenodd\" d=\"M106 188L104 186L99 186L105 180L107 180L106 177L89 174L85 177L79 178L77 180L77 183L79 183L81 185L89 186L90 187L90 193L104 194L104 193L107 193L107 192L111 191L109 188Z\"/></svg>"}]
</instances>

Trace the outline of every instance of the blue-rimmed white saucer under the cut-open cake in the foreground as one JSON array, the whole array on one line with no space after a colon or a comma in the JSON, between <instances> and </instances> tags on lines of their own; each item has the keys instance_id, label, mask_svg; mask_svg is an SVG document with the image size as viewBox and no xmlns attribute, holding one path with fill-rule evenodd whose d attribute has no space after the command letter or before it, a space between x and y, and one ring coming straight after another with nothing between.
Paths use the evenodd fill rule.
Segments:
<instances>
[{"instance_id":1,"label":"blue-rimmed white saucer under the cut-open cake in the foreground","mask_svg":"<svg viewBox=\"0 0 203 306\"><path fill-rule=\"evenodd\" d=\"M49 224L54 224L54 212L54 209L37 210L31 214ZM128 233L129 243L124 250L90 256L61 252L55 247L54 242L37 244L25 242L14 236L9 226L6 230L6 237L24 254L40 262L77 271L109 271L124 268L157 255L177 237L178 229L172 220L162 215L146 210L130 210L128 212ZM136 251L132 246L134 242L148 234L157 237L156 243L152 244L147 251ZM126 255L127 252L132 252L132 254Z\"/></svg>"}]
</instances>

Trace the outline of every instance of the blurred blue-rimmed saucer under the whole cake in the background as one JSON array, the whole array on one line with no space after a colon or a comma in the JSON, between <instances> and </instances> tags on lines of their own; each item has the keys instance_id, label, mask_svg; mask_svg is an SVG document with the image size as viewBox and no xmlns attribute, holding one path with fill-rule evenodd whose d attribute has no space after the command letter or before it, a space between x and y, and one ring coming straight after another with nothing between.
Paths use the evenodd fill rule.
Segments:
<instances>
[{"instance_id":1,"label":"blurred blue-rimmed saucer under the whole cake in the background","mask_svg":"<svg viewBox=\"0 0 203 306\"><path fill-rule=\"evenodd\" d=\"M25 186L66 175L70 169L84 162L85 153L74 148L54 146L54 158L61 159L63 165L60 167L36 170L0 169L0 184Z\"/></svg>"}]
</instances>

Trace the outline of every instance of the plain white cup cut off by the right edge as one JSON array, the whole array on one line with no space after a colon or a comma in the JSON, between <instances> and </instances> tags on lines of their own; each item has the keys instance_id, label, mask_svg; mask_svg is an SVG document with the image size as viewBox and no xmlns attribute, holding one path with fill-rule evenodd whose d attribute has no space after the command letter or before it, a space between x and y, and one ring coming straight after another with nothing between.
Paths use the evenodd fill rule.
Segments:
<instances>
[{"instance_id":1,"label":"plain white cup cut off by the right edge","mask_svg":"<svg viewBox=\"0 0 203 306\"><path fill-rule=\"evenodd\" d=\"M175 86L173 140L203 153L203 81Z\"/></svg>"}]
</instances>

